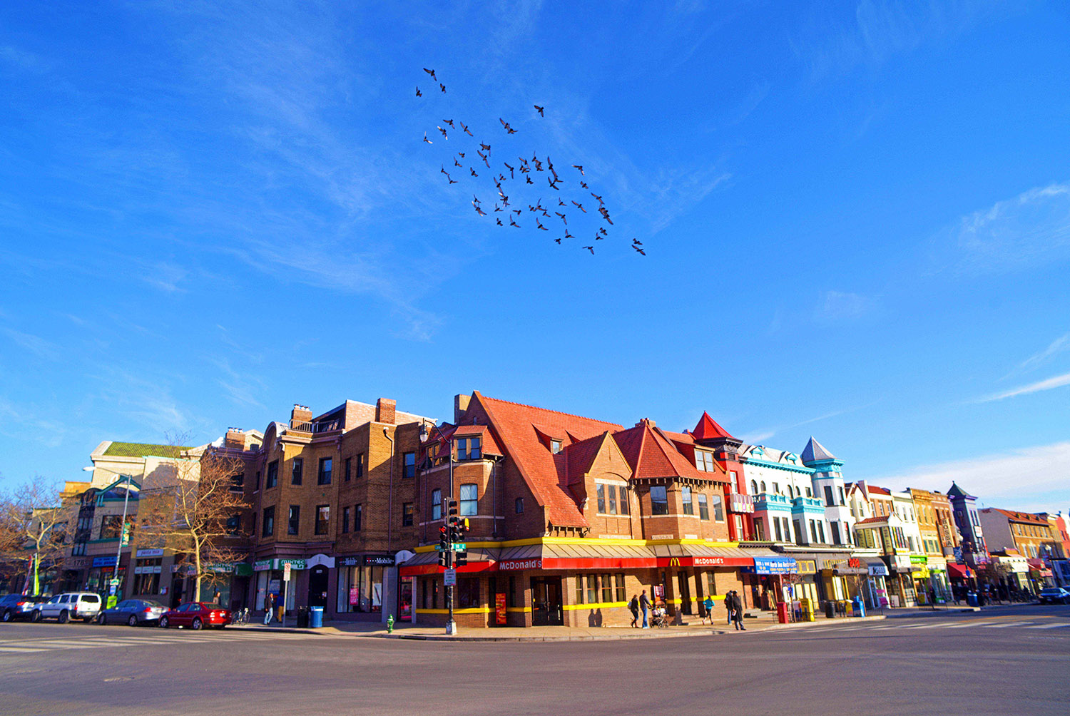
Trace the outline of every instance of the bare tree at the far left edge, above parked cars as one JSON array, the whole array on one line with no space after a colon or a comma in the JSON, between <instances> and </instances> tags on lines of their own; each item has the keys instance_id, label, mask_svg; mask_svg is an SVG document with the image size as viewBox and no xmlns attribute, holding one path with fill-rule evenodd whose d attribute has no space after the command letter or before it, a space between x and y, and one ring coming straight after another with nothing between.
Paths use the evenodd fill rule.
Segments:
<instances>
[{"instance_id":1,"label":"bare tree at the far left edge, above parked cars","mask_svg":"<svg viewBox=\"0 0 1070 716\"><path fill-rule=\"evenodd\" d=\"M26 561L26 578L33 579L34 594L41 592L41 565L63 559L76 516L77 500L42 475L0 494L0 554Z\"/></svg>"}]
</instances>

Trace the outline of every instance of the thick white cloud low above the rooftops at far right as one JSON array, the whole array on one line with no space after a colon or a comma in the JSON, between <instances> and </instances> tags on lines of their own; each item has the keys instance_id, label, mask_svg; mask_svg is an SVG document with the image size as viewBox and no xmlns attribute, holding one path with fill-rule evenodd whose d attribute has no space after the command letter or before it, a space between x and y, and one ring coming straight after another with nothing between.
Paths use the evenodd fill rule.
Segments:
<instances>
[{"instance_id":1,"label":"thick white cloud low above the rooftops at far right","mask_svg":"<svg viewBox=\"0 0 1070 716\"><path fill-rule=\"evenodd\" d=\"M954 482L988 506L1056 512L1070 502L1068 474L1070 442L1058 442L919 466L868 482L941 491Z\"/></svg>"}]
</instances>

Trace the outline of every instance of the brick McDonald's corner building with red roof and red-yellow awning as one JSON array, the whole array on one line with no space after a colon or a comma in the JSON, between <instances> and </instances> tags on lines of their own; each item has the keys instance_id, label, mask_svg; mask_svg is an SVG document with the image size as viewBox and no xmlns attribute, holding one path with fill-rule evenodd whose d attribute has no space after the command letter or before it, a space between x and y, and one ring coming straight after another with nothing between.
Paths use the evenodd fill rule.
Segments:
<instances>
[{"instance_id":1,"label":"brick McDonald's corner building with red roof and red-yellow awning","mask_svg":"<svg viewBox=\"0 0 1070 716\"><path fill-rule=\"evenodd\" d=\"M739 568L773 555L729 540L729 476L714 451L649 420L625 429L458 395L454 423L428 432L418 482L421 546L401 575L424 623L446 619L433 543L450 496L471 523L461 626L626 625L644 590L671 619L698 618L707 594L742 591Z\"/></svg>"}]
</instances>

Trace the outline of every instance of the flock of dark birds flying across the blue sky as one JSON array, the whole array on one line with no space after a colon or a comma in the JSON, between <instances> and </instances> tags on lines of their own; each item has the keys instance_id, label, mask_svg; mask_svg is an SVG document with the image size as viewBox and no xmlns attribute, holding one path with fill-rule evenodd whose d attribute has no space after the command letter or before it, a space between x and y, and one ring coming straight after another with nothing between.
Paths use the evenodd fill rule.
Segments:
<instances>
[{"instance_id":1,"label":"flock of dark birds flying across the blue sky","mask_svg":"<svg viewBox=\"0 0 1070 716\"><path fill-rule=\"evenodd\" d=\"M427 67L425 67L424 72L426 72L430 76L430 79L432 81L438 82L440 92L442 94L445 94L446 86L441 81L439 81L439 78L434 74L434 70L428 70ZM424 93L421 91L418 86L416 87L416 96L417 97L424 96ZM539 117L545 117L542 112L546 109L546 107L540 107L538 105L533 105L533 106ZM501 122L502 131L505 132L506 137L517 134L517 130L515 130L504 119L499 118L498 121ZM491 214L501 213L503 215L502 217L498 216L494 217L495 225L500 227L515 227L519 229L522 228L522 225L518 223L518 219L524 222L525 225L530 226L528 218L532 218L534 219L535 223L535 230L549 232L550 227L547 226L546 224L550 224L554 226L555 233L563 232L564 234L554 239L554 241L559 244L569 239L576 239L576 235L570 233L569 231L570 228L577 232L580 232L584 230L584 228L581 227L590 227L586 230L594 232L593 239L591 239L590 244L582 246L582 248L585 248L586 250L591 252L592 255L594 255L595 253L595 246L597 245L596 242L607 239L609 237L609 229L607 229L605 225L613 226L613 219L610 218L609 210L606 208L606 202L602 201L602 198L600 196L592 192L591 187L587 185L586 173L583 171L582 165L579 164L570 165L571 169L575 170L576 173L574 173L570 170L567 172L564 169L562 170L563 172L566 172L572 177L574 181L571 183L566 178L557 173L557 170L554 167L553 162L550 161L549 156L539 158L537 152L533 152L530 158L526 156L517 156L516 159L508 157L508 161L501 161L500 164L499 159L495 158L493 159L494 164L491 165L492 159L491 159L490 143L485 142L482 138L478 141L476 141L475 135L472 134L469 126L465 125L459 119L456 121L453 119L444 119L442 120L442 124L445 126L437 125L435 127L439 132L439 135L441 135L441 139L433 132L431 133L433 139L429 138L427 136L427 133L425 132L424 141L427 142L428 144L433 144L435 141L439 142L449 141L452 134L455 142L458 139L460 139L463 140L467 144L467 147L460 147L458 148L458 151L453 153L452 157L453 165L449 167L449 171L446 170L445 164L442 165L441 173L445 176L447 185L457 184L462 179L467 181L472 181L472 180L477 180L480 177L486 178L489 176L490 180L493 182L494 187L496 189L496 196L493 199L493 204L494 204L493 209L489 209L490 201L487 202L487 208L485 209L484 201L480 200L476 194L472 195L472 208L475 210L476 214L478 214L479 216L489 216ZM465 140L464 139L465 135L471 137L472 139ZM491 140L488 139L487 141L489 142ZM473 146L476 143L478 144L478 148L474 150L475 156L471 156L473 154ZM496 141L494 143L498 144ZM460 151L461 149L467 149L468 151ZM495 157L496 156L498 155L495 154ZM478 157L478 159L476 157ZM479 166L480 164L483 166ZM476 171L477 167L479 171ZM468 173L464 173L465 169L468 169ZM505 174L506 170L509 172L508 176ZM539 172L541 172L541 176ZM458 177L460 177L460 179L454 179L454 174L457 174ZM519 184L519 188L522 192L526 193L529 192L529 189L526 189L529 185L533 187L541 185L541 181L544 179L546 180L549 188L552 192L555 192L556 194L551 195L551 198L547 201L549 205L542 205L541 197L539 197L539 199L535 203L529 202L526 211L529 212L529 214L532 214L533 216L525 218L523 215L524 202L519 200L519 198L516 196L517 191L514 188L514 186ZM486 182L486 179L484 179L484 182ZM593 197L594 200L598 202L597 212L601 218L595 219L597 227L591 226L590 218L594 218L594 214L587 212L587 209L584 208L582 201L577 201L576 199L572 199L570 196L566 196L564 194L564 192L568 189L575 191L577 185L579 186L579 188L583 189L583 194L580 196L580 198L583 201L587 201L587 204L591 205L592 209L593 204L590 200L585 198L586 195L590 194L591 197ZM486 184L485 187L489 188L486 186ZM534 193L534 191L531 192ZM511 201L509 198L510 194L513 195ZM554 205L553 203L554 201L556 201L556 205ZM514 204L516 204L518 208L510 209L510 207L513 207ZM559 209L561 211L559 211ZM553 214L550 213L551 211L553 212ZM569 225L568 223L569 215L572 216L571 225ZM502 220L503 218L507 219L507 222L503 222ZM547 219L546 224L542 223L544 218ZM557 219L561 220L560 228L557 228ZM591 234L587 233L586 235ZM631 240L631 247L636 249L638 253L642 254L643 256L646 256L646 252L643 249L643 242L639 241L638 239Z\"/></svg>"}]
</instances>

